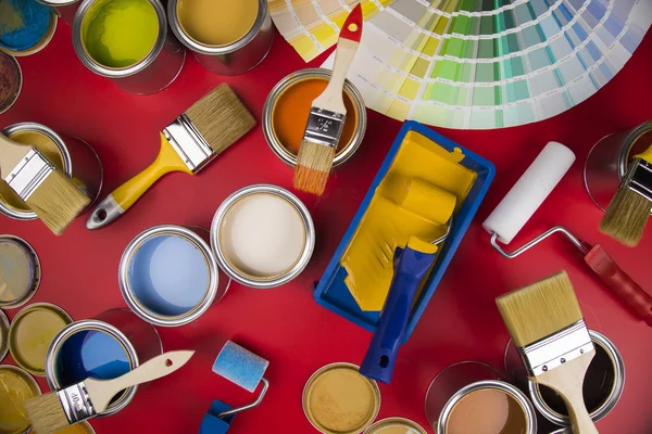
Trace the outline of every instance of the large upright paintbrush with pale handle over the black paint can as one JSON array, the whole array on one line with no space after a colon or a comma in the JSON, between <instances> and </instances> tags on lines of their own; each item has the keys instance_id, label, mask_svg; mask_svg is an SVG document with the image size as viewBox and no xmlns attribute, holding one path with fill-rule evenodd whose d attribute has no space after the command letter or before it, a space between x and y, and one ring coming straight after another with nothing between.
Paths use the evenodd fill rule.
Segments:
<instances>
[{"instance_id":1,"label":"large upright paintbrush with pale handle over the black paint can","mask_svg":"<svg viewBox=\"0 0 652 434\"><path fill-rule=\"evenodd\" d=\"M529 380L560 394L575 434L598 433L582 397L595 348L568 275L560 271L496 303Z\"/></svg>"}]
</instances>

